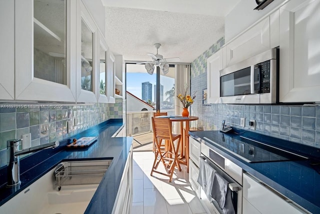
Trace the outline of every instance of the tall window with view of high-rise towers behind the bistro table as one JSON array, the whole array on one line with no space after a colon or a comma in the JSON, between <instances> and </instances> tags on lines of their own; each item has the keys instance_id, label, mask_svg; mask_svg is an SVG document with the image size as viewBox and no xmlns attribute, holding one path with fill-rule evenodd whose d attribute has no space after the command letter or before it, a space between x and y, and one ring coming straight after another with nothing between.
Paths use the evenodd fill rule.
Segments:
<instances>
[{"instance_id":1,"label":"tall window with view of high-rise towers behind the bistro table","mask_svg":"<svg viewBox=\"0 0 320 214\"><path fill-rule=\"evenodd\" d=\"M126 112L127 135L135 135L152 129L150 118L156 109L156 69L150 75L144 64L126 64ZM159 104L160 111L174 114L174 66L166 75L160 71Z\"/></svg>"}]
</instances>

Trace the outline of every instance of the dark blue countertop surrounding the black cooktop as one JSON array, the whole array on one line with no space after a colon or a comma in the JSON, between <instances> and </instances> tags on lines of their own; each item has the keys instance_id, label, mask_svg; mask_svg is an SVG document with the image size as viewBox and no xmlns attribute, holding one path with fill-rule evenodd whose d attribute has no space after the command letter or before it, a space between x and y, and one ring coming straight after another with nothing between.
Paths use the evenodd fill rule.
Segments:
<instances>
[{"instance_id":1,"label":"dark blue countertop surrounding the black cooktop","mask_svg":"<svg viewBox=\"0 0 320 214\"><path fill-rule=\"evenodd\" d=\"M189 132L189 134L298 205L312 213L320 213L320 188L316 188L320 186L320 174L318 173L320 171L318 164L320 163L319 149L249 131L244 131L241 134L222 134L219 131L194 131ZM216 142L221 140L221 135L224 135L223 140L225 141L231 139L232 141L234 141L233 139L240 140L240 135L262 140L263 143L307 156L309 159L248 163L204 138L206 137Z\"/></svg>"}]
</instances>

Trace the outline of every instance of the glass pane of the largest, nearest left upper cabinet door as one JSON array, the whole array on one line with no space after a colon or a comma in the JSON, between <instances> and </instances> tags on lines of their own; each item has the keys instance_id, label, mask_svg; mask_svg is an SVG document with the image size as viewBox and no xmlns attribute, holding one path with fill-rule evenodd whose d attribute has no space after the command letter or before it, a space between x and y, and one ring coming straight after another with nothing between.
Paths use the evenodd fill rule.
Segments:
<instances>
[{"instance_id":1,"label":"glass pane of the largest, nearest left upper cabinet door","mask_svg":"<svg viewBox=\"0 0 320 214\"><path fill-rule=\"evenodd\" d=\"M33 1L33 76L66 85L65 0Z\"/></svg>"}]
</instances>

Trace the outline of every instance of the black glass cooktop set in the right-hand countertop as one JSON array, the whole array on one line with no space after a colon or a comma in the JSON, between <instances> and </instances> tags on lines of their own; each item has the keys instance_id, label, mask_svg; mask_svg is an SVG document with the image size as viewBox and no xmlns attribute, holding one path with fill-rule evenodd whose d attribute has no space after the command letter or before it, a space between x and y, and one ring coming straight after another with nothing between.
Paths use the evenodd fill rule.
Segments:
<instances>
[{"instance_id":1,"label":"black glass cooktop set in the right-hand countertop","mask_svg":"<svg viewBox=\"0 0 320 214\"><path fill-rule=\"evenodd\" d=\"M219 134L220 137L216 136L215 141L207 137L204 137L204 139L248 163L307 159L247 137L239 136L235 138L221 132L216 134Z\"/></svg>"}]
</instances>

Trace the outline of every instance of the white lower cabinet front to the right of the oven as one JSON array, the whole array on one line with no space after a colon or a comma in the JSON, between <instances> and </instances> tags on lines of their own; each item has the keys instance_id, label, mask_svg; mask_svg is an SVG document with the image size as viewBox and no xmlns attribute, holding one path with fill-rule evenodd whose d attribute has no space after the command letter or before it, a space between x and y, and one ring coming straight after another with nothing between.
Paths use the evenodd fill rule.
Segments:
<instances>
[{"instance_id":1,"label":"white lower cabinet front to the right of the oven","mask_svg":"<svg viewBox=\"0 0 320 214\"><path fill-rule=\"evenodd\" d=\"M242 213L306 213L284 198L252 175L243 173Z\"/></svg>"}]
</instances>

